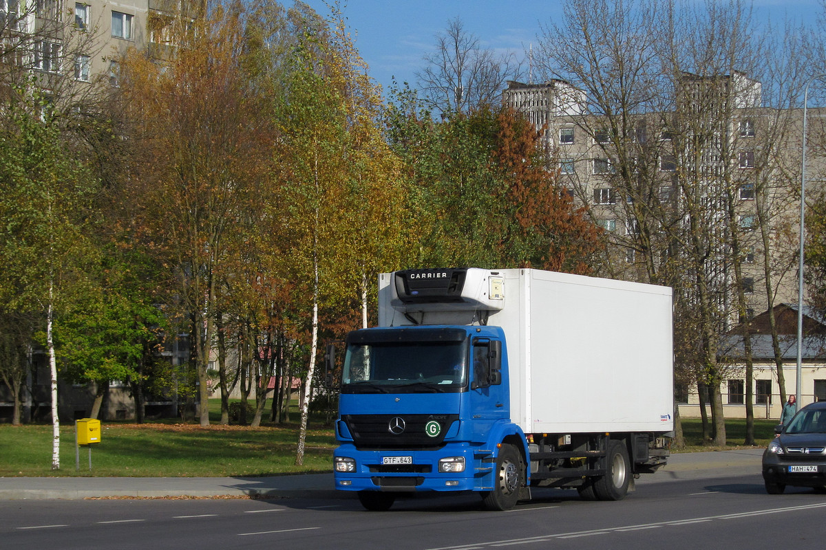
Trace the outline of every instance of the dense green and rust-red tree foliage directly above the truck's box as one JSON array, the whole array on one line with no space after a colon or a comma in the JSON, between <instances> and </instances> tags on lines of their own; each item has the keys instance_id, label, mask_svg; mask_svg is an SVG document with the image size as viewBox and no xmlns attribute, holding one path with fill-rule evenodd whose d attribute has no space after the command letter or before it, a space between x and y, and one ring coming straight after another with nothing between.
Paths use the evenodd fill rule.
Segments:
<instances>
[{"instance_id":1,"label":"dense green and rust-red tree foliage directly above the truck's box","mask_svg":"<svg viewBox=\"0 0 826 550\"><path fill-rule=\"evenodd\" d=\"M405 163L416 265L588 272L596 226L546 169L528 122L487 108L435 122L414 93L395 93L386 132Z\"/></svg>"}]
</instances>

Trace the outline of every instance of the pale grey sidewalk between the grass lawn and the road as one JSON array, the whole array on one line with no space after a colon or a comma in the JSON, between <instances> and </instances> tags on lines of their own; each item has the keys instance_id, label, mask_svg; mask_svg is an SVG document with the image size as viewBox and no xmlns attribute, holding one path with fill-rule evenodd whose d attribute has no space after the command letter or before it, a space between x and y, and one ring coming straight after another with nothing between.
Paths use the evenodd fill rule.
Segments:
<instances>
[{"instance_id":1,"label":"pale grey sidewalk between the grass lawn and the road","mask_svg":"<svg viewBox=\"0 0 826 550\"><path fill-rule=\"evenodd\" d=\"M668 464L638 482L656 483L760 473L763 449L672 454ZM79 500L101 497L255 496L341 498L333 474L278 477L0 477L0 500Z\"/></svg>"}]
</instances>

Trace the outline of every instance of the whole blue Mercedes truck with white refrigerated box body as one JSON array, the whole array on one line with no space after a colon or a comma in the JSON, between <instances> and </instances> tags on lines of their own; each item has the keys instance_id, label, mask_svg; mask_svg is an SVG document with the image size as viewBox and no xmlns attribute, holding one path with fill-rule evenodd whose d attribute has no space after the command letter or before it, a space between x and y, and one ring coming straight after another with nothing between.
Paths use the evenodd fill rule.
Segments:
<instances>
[{"instance_id":1,"label":"whole blue Mercedes truck with white refrigerated box body","mask_svg":"<svg viewBox=\"0 0 826 550\"><path fill-rule=\"evenodd\" d=\"M666 463L671 289L401 270L380 275L378 303L378 327L350 332L343 360L327 350L335 488L358 491L366 509L404 492L476 491L508 510L531 487L617 501Z\"/></svg>"}]
</instances>

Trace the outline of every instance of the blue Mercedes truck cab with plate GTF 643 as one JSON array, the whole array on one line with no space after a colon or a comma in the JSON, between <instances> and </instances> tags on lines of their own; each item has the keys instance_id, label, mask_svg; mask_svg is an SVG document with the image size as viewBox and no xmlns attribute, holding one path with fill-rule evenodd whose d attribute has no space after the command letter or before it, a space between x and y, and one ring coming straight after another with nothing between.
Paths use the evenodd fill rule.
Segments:
<instances>
[{"instance_id":1,"label":"blue Mercedes truck cab with plate GTF 643","mask_svg":"<svg viewBox=\"0 0 826 550\"><path fill-rule=\"evenodd\" d=\"M491 435L524 440L510 422L504 346L500 327L350 332L336 487L360 491L369 509L401 491L490 491Z\"/></svg>"}]
</instances>

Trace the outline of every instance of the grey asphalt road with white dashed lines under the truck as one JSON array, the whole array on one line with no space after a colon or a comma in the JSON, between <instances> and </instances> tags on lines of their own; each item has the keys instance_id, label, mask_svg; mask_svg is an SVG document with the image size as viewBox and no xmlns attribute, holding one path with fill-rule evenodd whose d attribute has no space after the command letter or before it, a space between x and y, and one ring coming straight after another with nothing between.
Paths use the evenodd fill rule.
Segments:
<instances>
[{"instance_id":1,"label":"grey asphalt road with white dashed lines under the truck","mask_svg":"<svg viewBox=\"0 0 826 550\"><path fill-rule=\"evenodd\" d=\"M619 502L539 490L508 512L483 511L474 494L401 499L388 512L323 495L0 501L0 548L824 548L826 495L770 496L759 472L740 469L652 476Z\"/></svg>"}]
</instances>

